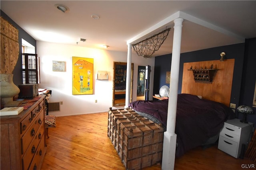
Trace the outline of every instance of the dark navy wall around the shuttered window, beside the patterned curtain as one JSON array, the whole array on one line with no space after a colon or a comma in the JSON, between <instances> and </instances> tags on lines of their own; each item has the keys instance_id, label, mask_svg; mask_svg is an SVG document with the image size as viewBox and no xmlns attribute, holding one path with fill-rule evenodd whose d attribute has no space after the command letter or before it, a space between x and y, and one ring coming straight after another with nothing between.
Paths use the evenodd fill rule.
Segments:
<instances>
[{"instance_id":1,"label":"dark navy wall around the shuttered window, beside the patterned curtain","mask_svg":"<svg viewBox=\"0 0 256 170\"><path fill-rule=\"evenodd\" d=\"M8 21L10 24L12 24L14 27L16 27L19 30L19 58L17 61L17 64L12 72L13 74L13 82L16 86L19 84L22 84L22 43L21 39L26 40L28 43L33 45L36 50L36 40L31 37L26 31L24 31L17 23L15 23L9 16L7 16L2 10L1 10L1 17L4 18L4 20Z\"/></svg>"}]
</instances>

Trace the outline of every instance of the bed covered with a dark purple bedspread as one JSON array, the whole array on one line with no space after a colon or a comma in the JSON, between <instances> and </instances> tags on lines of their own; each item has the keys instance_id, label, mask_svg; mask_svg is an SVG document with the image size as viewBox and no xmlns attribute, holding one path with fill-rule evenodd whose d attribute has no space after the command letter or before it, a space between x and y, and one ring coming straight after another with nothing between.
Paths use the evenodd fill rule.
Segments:
<instances>
[{"instance_id":1,"label":"bed covered with a dark purple bedspread","mask_svg":"<svg viewBox=\"0 0 256 170\"><path fill-rule=\"evenodd\" d=\"M130 108L166 129L168 100L138 100L131 102ZM232 109L224 104L191 94L178 94L176 157L195 147L215 143L224 122L234 118Z\"/></svg>"}]
</instances>

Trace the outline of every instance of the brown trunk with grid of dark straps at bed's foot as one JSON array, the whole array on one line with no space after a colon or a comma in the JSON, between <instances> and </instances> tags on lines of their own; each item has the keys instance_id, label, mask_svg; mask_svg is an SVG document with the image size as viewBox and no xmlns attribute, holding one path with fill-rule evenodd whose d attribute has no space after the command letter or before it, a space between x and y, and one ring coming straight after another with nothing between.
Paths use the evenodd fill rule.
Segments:
<instances>
[{"instance_id":1,"label":"brown trunk with grid of dark straps at bed's foot","mask_svg":"<svg viewBox=\"0 0 256 170\"><path fill-rule=\"evenodd\" d=\"M133 109L108 111L108 137L126 170L162 162L164 128Z\"/></svg>"}]
</instances>

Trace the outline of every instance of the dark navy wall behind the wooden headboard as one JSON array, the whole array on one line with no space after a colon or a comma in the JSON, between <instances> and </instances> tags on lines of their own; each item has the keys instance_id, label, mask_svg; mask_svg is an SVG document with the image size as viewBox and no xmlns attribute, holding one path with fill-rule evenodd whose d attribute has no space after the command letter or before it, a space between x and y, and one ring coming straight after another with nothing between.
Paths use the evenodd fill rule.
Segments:
<instances>
[{"instance_id":1,"label":"dark navy wall behind the wooden headboard","mask_svg":"<svg viewBox=\"0 0 256 170\"><path fill-rule=\"evenodd\" d=\"M222 47L214 47L210 49L204 49L204 50L192 51L192 52L180 54L180 74L179 74L179 83L178 83L178 94L181 93L181 88L182 88L182 74L183 74L184 63L219 60L220 53L225 52L226 53L225 59L235 59L230 102L236 104L236 107L238 107L242 105L244 102L246 102L246 99L247 99L249 103L248 106L252 106L255 80L256 80L255 78L256 77L256 74L255 74L256 45L255 43L256 43L256 39L248 39L246 40L246 43L239 43L239 44L227 45ZM170 84L165 83L165 75L166 75L166 71L170 70L171 57L172 57L172 54L155 57L153 94L159 94L159 89L163 85L170 86ZM246 67L244 67L244 63L247 64ZM252 76L252 74L254 75ZM254 111L255 111L255 107L254 107ZM238 114L238 118L242 119L242 115ZM255 114L248 115L248 120L252 123L256 123L256 115Z\"/></svg>"}]
</instances>

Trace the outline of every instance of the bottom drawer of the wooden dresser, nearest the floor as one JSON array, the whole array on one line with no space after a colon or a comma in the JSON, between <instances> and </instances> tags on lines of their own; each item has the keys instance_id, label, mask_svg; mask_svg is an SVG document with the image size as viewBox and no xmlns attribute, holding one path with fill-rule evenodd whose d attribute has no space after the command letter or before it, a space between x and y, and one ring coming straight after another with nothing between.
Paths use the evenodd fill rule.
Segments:
<instances>
[{"instance_id":1,"label":"bottom drawer of the wooden dresser, nearest the floor","mask_svg":"<svg viewBox=\"0 0 256 170\"><path fill-rule=\"evenodd\" d=\"M44 135L42 136L42 138L44 138ZM44 154L45 154L45 147L44 147L44 140L40 141L40 144L36 150L35 156L32 160L32 163L30 165L29 170L39 170L39 165L41 164L43 158L44 158Z\"/></svg>"}]
</instances>

